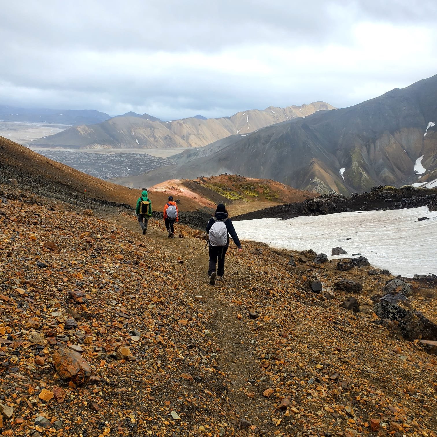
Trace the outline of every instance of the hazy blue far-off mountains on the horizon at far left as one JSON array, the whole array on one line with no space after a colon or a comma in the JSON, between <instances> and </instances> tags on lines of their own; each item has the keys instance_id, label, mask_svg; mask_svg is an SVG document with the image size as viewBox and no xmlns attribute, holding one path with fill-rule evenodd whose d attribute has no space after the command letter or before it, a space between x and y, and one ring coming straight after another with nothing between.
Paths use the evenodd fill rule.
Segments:
<instances>
[{"instance_id":1,"label":"hazy blue far-off mountains on the horizon at far left","mask_svg":"<svg viewBox=\"0 0 437 437\"><path fill-rule=\"evenodd\" d=\"M0 105L0 121L19 121L26 123L51 123L59 125L83 125L100 123L108 120L111 115L94 109L45 109L17 108Z\"/></svg>"}]
</instances>

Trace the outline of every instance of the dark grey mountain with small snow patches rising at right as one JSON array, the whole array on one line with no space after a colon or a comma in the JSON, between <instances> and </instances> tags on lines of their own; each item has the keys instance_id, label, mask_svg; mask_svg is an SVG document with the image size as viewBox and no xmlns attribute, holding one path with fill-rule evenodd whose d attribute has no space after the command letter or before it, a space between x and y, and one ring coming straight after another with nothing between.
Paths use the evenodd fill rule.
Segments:
<instances>
[{"instance_id":1,"label":"dark grey mountain with small snow patches rising at right","mask_svg":"<svg viewBox=\"0 0 437 437\"><path fill-rule=\"evenodd\" d=\"M431 187L437 182L437 75L350 108L318 111L173 158L175 165L116 181L150 186L227 172L320 193L363 192L380 184Z\"/></svg>"}]
</instances>

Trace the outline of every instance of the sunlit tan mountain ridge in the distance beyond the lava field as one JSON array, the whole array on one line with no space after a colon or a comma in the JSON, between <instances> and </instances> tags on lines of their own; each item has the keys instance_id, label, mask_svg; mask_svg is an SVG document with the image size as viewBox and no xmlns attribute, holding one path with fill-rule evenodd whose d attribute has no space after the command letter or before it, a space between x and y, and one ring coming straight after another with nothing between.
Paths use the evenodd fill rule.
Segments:
<instances>
[{"instance_id":1,"label":"sunlit tan mountain ridge in the distance beyond the lava field","mask_svg":"<svg viewBox=\"0 0 437 437\"><path fill-rule=\"evenodd\" d=\"M293 120L315 111L334 109L325 102L263 111L238 112L232 117L197 115L183 120L161 121L148 114L127 114L95 125L73 126L63 132L35 140L30 146L73 149L170 149L206 146L229 135L246 135L264 126Z\"/></svg>"}]
</instances>

